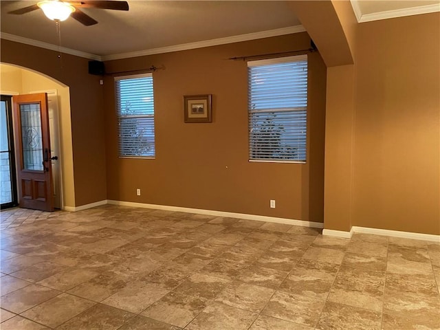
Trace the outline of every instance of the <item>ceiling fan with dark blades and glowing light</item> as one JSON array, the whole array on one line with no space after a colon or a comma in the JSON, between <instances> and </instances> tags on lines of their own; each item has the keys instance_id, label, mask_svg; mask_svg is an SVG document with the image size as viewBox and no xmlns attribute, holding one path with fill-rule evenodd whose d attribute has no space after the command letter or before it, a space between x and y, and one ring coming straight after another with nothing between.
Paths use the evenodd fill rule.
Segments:
<instances>
[{"instance_id":1,"label":"ceiling fan with dark blades and glowing light","mask_svg":"<svg viewBox=\"0 0 440 330\"><path fill-rule=\"evenodd\" d=\"M27 12L32 12L41 8L45 15L53 21L65 21L72 15L73 19L89 26L98 23L89 15L85 14L81 9L83 8L97 8L110 10L129 10L129 3L126 1L60 1L60 0L45 0L40 1L28 7L12 10L9 14L21 15Z\"/></svg>"}]
</instances>

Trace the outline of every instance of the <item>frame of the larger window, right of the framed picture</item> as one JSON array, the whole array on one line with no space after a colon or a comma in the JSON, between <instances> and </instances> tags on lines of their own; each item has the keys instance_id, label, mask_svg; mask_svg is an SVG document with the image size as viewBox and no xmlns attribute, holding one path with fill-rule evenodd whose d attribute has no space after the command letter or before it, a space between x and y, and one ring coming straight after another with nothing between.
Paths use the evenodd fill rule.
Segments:
<instances>
[{"instance_id":1,"label":"frame of the larger window, right of the framed picture","mask_svg":"<svg viewBox=\"0 0 440 330\"><path fill-rule=\"evenodd\" d=\"M292 63L292 62L301 62L301 61L306 61L306 67L307 67L307 83L306 83L306 96L307 96L307 100L306 100L306 104L305 107L293 107L295 109L290 109L290 110L286 110L283 108L279 108L279 109L256 109L256 110L252 110L252 104L251 104L251 94L252 94L252 89L251 89L251 68L252 67L262 67L265 65L274 65L274 64L281 64L281 63ZM308 146L308 142L309 142L309 138L308 138L308 133L309 133L309 113L308 113L308 92L309 92L309 61L308 61L308 56L307 54L303 54L303 55L296 55L296 56L285 56L285 57L278 57L278 58L268 58L268 59L263 59L263 60L256 60L256 61L248 61L248 162L260 162L260 163L288 163L288 164L307 164L307 159L308 159L308 153L309 153L309 146ZM287 113L294 113L295 111L305 111L304 114L304 119L305 119L305 134L304 134L304 139L305 139L305 151L304 151L304 159L273 159L273 158L252 158L252 141L254 141L254 139L252 139L252 114L254 113L282 113L282 112L287 112Z\"/></svg>"}]
</instances>

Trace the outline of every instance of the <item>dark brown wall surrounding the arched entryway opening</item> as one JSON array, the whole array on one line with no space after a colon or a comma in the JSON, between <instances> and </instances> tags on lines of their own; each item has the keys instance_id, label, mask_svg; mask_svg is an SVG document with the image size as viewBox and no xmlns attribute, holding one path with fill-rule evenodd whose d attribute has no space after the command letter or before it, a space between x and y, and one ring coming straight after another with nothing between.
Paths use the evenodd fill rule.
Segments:
<instances>
[{"instance_id":1,"label":"dark brown wall surrounding the arched entryway opening","mask_svg":"<svg viewBox=\"0 0 440 330\"><path fill-rule=\"evenodd\" d=\"M98 76L88 60L1 39L1 62L41 72L70 87L75 205L106 199L104 113Z\"/></svg>"}]
</instances>

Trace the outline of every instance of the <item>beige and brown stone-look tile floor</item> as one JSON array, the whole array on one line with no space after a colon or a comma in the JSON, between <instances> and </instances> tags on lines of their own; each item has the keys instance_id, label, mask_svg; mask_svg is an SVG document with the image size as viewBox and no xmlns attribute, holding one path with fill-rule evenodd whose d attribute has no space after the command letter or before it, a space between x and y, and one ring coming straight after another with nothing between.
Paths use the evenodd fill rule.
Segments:
<instances>
[{"instance_id":1,"label":"beige and brown stone-look tile floor","mask_svg":"<svg viewBox=\"0 0 440 330\"><path fill-rule=\"evenodd\" d=\"M440 329L440 245L102 206L1 212L0 328Z\"/></svg>"}]
</instances>

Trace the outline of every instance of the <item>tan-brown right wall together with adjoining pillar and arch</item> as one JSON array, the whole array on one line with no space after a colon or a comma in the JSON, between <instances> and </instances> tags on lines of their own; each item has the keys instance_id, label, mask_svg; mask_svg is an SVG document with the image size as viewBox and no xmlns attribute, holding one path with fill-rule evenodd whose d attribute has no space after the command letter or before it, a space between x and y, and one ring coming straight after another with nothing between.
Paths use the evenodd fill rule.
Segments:
<instances>
[{"instance_id":1,"label":"tan-brown right wall together with adjoining pillar and arch","mask_svg":"<svg viewBox=\"0 0 440 330\"><path fill-rule=\"evenodd\" d=\"M440 14L356 24L348 1L291 3L329 67L325 228L440 234Z\"/></svg>"}]
</instances>

